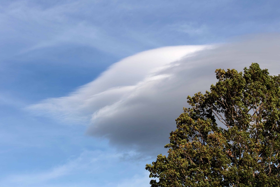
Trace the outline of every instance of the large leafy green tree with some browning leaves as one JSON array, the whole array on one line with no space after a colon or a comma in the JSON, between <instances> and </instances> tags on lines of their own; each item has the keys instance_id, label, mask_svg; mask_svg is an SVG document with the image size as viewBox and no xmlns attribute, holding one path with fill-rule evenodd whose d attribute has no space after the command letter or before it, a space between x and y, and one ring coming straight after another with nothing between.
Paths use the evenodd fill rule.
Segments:
<instances>
[{"instance_id":1,"label":"large leafy green tree with some browning leaves","mask_svg":"<svg viewBox=\"0 0 280 187\"><path fill-rule=\"evenodd\" d=\"M168 156L147 164L151 187L280 186L280 75L257 63L216 70L216 85L188 96Z\"/></svg>"}]
</instances>

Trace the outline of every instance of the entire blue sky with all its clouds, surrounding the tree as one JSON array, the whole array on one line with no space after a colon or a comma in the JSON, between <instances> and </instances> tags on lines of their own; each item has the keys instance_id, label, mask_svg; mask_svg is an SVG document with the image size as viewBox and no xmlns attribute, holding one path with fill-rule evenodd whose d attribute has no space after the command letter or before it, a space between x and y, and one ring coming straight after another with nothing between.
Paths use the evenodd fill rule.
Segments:
<instances>
[{"instance_id":1,"label":"entire blue sky with all its clouds, surrounding the tree","mask_svg":"<svg viewBox=\"0 0 280 187\"><path fill-rule=\"evenodd\" d=\"M280 74L279 1L0 1L0 187L149 187L215 69Z\"/></svg>"}]
</instances>

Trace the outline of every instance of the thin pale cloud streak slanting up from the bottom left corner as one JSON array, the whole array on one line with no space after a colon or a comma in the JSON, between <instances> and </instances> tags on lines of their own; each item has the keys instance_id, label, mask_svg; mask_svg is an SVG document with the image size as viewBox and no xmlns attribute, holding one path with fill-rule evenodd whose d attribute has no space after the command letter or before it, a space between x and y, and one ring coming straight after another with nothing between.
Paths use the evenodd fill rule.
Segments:
<instances>
[{"instance_id":1,"label":"thin pale cloud streak slanting up from the bottom left corner","mask_svg":"<svg viewBox=\"0 0 280 187\"><path fill-rule=\"evenodd\" d=\"M98 176L106 169L114 169L112 163L120 162L123 154L133 155L133 153L115 153L113 151L88 151L84 150L77 158L67 160L63 165L51 169L25 172L23 174L13 174L0 179L1 186L40 186L41 184L51 184L56 179L63 179L67 176L90 174L92 177ZM110 176L110 174L108 174ZM146 175L148 176L148 175ZM146 177L148 178L148 177ZM73 185L73 184L72 184ZM92 185L92 183L91 183ZM51 186L51 185L49 185ZM75 185L74 185L75 186ZM88 186L88 185L86 185Z\"/></svg>"}]
</instances>

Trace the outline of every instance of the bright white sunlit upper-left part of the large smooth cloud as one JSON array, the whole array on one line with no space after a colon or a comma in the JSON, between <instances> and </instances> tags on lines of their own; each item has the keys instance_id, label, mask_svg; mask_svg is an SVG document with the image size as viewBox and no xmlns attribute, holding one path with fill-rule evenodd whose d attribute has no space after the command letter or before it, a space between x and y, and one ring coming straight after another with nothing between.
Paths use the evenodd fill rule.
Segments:
<instances>
[{"instance_id":1,"label":"bright white sunlit upper-left part of the large smooth cloud","mask_svg":"<svg viewBox=\"0 0 280 187\"><path fill-rule=\"evenodd\" d=\"M170 63L205 47L164 47L138 53L113 64L96 80L69 96L47 99L28 108L39 114L47 112L68 122L85 123L90 118L96 120L104 115L112 115L116 111L113 108L117 108L123 100L133 97L135 91L141 90L141 86L169 77L168 74L156 75L157 72L170 68ZM108 113L107 110L111 112Z\"/></svg>"}]
</instances>

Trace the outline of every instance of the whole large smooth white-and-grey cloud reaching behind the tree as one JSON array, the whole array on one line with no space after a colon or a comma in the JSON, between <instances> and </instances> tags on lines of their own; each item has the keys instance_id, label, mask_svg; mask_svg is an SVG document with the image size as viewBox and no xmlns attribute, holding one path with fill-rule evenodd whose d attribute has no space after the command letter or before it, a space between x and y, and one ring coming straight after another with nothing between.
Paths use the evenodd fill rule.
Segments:
<instances>
[{"instance_id":1,"label":"whole large smooth white-and-grey cloud reaching behind the tree","mask_svg":"<svg viewBox=\"0 0 280 187\"><path fill-rule=\"evenodd\" d=\"M172 46L144 51L111 65L68 96L29 106L40 115L89 124L87 134L112 145L153 153L166 143L186 97L209 90L215 69L239 71L252 62L276 74L280 37L258 35L214 46Z\"/></svg>"}]
</instances>

